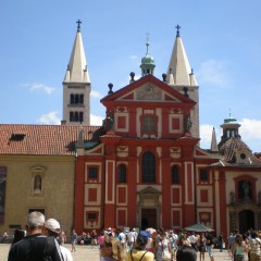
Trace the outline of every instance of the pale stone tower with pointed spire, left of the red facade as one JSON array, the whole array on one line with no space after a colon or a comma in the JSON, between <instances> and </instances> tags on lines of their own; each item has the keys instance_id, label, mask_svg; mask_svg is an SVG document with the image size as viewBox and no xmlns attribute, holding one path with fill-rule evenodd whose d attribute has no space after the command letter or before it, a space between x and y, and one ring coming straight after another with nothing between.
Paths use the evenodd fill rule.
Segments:
<instances>
[{"instance_id":1,"label":"pale stone tower with pointed spire, left of the red facade","mask_svg":"<svg viewBox=\"0 0 261 261\"><path fill-rule=\"evenodd\" d=\"M80 23L78 20L77 34L63 80L63 120L61 124L87 126L90 125L90 79Z\"/></svg>"}]
</instances>

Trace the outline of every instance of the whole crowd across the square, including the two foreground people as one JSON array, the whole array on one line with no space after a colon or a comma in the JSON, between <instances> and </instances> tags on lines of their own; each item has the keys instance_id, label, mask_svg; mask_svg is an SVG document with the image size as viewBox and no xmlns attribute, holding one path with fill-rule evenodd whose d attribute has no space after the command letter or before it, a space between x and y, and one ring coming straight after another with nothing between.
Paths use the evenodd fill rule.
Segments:
<instances>
[{"instance_id":1,"label":"whole crowd across the square, including the two foreground people","mask_svg":"<svg viewBox=\"0 0 261 261\"><path fill-rule=\"evenodd\" d=\"M200 261L204 261L206 253L214 261L213 246L220 251L224 248L222 234L214 238L209 232L137 229L108 227L99 234L94 229L80 235L73 229L70 251L63 246L69 240L59 222L45 220L42 213L35 211L27 216L26 232L15 231L8 261L73 261L72 252L77 245L99 248L100 261L196 261L197 252ZM227 243L233 261L260 261L261 232L249 231L241 235L235 231Z\"/></svg>"}]
</instances>

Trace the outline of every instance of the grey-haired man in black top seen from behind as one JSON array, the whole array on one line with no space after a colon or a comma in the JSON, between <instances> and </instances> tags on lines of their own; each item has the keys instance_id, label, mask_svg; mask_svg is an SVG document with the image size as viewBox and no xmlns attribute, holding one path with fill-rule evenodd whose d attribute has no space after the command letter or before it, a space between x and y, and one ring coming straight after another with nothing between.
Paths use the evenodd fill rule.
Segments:
<instances>
[{"instance_id":1,"label":"grey-haired man in black top seen from behind","mask_svg":"<svg viewBox=\"0 0 261 261\"><path fill-rule=\"evenodd\" d=\"M61 249L57 240L48 240L41 232L45 215L38 211L30 212L26 220L26 232L22 240L14 244L9 251L8 261L62 261Z\"/></svg>"}]
</instances>

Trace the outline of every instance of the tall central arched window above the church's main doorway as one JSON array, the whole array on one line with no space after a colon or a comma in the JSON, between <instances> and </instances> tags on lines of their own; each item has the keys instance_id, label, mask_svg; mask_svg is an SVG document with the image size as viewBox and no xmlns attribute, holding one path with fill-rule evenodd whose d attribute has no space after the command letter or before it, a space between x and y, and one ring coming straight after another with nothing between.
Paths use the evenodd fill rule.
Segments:
<instances>
[{"instance_id":1,"label":"tall central arched window above the church's main doorway","mask_svg":"<svg viewBox=\"0 0 261 261\"><path fill-rule=\"evenodd\" d=\"M151 152L142 154L142 183L156 183L156 157Z\"/></svg>"}]
</instances>

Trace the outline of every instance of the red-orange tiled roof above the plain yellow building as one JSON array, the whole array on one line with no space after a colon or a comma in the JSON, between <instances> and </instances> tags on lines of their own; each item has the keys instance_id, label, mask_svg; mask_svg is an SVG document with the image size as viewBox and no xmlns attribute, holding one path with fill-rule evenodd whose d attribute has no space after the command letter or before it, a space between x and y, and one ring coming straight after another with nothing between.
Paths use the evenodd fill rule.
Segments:
<instances>
[{"instance_id":1,"label":"red-orange tiled roof above the plain yellow building","mask_svg":"<svg viewBox=\"0 0 261 261\"><path fill-rule=\"evenodd\" d=\"M0 124L0 154L73 156L80 126ZM89 140L100 127L83 126Z\"/></svg>"}]
</instances>

